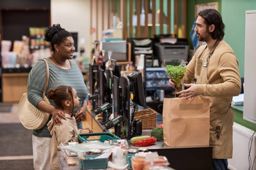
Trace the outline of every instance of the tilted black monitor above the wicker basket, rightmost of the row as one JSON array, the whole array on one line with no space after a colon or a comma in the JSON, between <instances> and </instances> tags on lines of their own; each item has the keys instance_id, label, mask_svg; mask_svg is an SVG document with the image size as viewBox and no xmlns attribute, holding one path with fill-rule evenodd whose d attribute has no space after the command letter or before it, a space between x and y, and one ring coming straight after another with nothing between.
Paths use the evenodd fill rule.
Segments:
<instances>
[{"instance_id":1,"label":"tilted black monitor above the wicker basket, rightmost of the row","mask_svg":"<svg viewBox=\"0 0 256 170\"><path fill-rule=\"evenodd\" d=\"M127 75L127 77L130 80L131 91L133 92L133 102L145 107L146 104L145 104L145 98L144 98L143 81L142 81L141 72L131 71Z\"/></svg>"}]
</instances>

